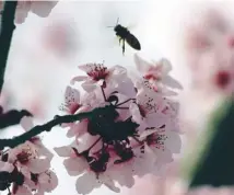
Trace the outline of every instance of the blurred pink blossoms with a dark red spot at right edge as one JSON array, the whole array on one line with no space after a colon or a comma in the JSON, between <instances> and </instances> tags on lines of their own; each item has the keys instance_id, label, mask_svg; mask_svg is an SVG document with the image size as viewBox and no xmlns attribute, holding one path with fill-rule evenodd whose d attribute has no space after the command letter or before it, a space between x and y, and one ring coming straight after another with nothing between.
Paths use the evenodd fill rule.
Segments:
<instances>
[{"instance_id":1,"label":"blurred pink blossoms with a dark red spot at right edge","mask_svg":"<svg viewBox=\"0 0 234 195\"><path fill-rule=\"evenodd\" d=\"M197 24L188 24L185 49L192 88L207 95L230 95L234 90L232 22L218 9L208 9Z\"/></svg>"}]
</instances>

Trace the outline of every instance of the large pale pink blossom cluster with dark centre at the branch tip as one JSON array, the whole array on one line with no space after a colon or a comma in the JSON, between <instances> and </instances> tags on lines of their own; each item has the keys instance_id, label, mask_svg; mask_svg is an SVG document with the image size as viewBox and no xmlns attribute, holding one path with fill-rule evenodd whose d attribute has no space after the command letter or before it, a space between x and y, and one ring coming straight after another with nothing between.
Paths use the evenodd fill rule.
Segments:
<instances>
[{"instance_id":1,"label":"large pale pink blossom cluster with dark centre at the branch tip","mask_svg":"<svg viewBox=\"0 0 234 195\"><path fill-rule=\"evenodd\" d=\"M180 85L168 76L169 61L151 64L138 55L134 61L141 72L137 79L121 66L85 64L79 69L86 74L74 77L66 89L60 108L67 114L104 111L62 124L72 142L55 148L68 174L79 176L80 194L101 185L115 192L131 187L134 175L157 174L180 151L178 103L171 96Z\"/></svg>"}]
</instances>

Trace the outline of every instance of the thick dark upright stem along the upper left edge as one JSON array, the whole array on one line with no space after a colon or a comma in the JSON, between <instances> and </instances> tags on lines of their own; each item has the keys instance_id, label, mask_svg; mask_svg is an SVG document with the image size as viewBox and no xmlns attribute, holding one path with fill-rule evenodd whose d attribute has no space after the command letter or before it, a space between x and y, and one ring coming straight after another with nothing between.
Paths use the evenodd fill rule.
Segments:
<instances>
[{"instance_id":1,"label":"thick dark upright stem along the upper left edge","mask_svg":"<svg viewBox=\"0 0 234 195\"><path fill-rule=\"evenodd\" d=\"M1 34L0 34L0 93L4 82L4 71L7 67L8 55L11 46L11 39L14 25L14 14L17 1L4 1L2 13Z\"/></svg>"}]
</instances>

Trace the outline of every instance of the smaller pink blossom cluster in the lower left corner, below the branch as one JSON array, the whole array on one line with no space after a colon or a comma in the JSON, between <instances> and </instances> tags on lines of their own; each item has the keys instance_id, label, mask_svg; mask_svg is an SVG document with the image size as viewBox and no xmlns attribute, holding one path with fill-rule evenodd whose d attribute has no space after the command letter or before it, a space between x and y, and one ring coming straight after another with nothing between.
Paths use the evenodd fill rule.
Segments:
<instances>
[{"instance_id":1,"label":"smaller pink blossom cluster in the lower left corner, below the branch","mask_svg":"<svg viewBox=\"0 0 234 195\"><path fill-rule=\"evenodd\" d=\"M31 117L23 117L21 126L27 131L33 127ZM50 169L52 153L39 137L33 137L13 149L0 153L0 191L11 195L43 195L58 185Z\"/></svg>"}]
</instances>

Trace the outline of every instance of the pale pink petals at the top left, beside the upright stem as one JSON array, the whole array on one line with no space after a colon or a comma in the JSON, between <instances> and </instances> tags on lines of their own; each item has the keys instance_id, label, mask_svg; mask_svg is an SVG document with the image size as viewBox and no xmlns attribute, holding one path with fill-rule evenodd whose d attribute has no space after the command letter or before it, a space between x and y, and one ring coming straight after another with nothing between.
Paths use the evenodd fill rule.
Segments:
<instances>
[{"instance_id":1,"label":"pale pink petals at the top left, beside the upright stem","mask_svg":"<svg viewBox=\"0 0 234 195\"><path fill-rule=\"evenodd\" d=\"M27 18L28 12L33 12L38 16L46 18L50 11L58 3L58 1L34 1L21 0L17 1L15 22L21 24ZM0 9L3 10L3 1L0 1Z\"/></svg>"}]
</instances>

